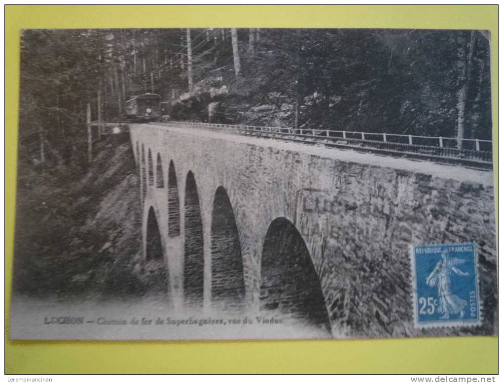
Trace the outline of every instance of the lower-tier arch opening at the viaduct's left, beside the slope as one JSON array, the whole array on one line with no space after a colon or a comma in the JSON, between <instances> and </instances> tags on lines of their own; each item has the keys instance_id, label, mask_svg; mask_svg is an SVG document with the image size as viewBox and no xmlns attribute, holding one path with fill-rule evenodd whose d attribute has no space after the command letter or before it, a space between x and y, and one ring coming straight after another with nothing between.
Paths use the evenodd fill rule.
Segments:
<instances>
[{"instance_id":1,"label":"lower-tier arch opening at the viaduct's left, beside the slope","mask_svg":"<svg viewBox=\"0 0 503 384\"><path fill-rule=\"evenodd\" d=\"M166 267L166 258L162 246L162 239L157 222L155 210L152 206L148 209L146 228L146 254L145 272L149 291L169 294L169 273ZM167 295L169 298L169 295Z\"/></svg>"}]
</instances>

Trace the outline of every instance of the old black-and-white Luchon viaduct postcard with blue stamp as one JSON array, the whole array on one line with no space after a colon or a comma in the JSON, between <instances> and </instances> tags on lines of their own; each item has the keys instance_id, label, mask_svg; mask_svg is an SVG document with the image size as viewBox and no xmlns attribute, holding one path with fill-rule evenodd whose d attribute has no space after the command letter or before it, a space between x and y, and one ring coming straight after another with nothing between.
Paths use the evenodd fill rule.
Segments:
<instances>
[{"instance_id":1,"label":"old black-and-white Luchon viaduct postcard with blue stamp","mask_svg":"<svg viewBox=\"0 0 503 384\"><path fill-rule=\"evenodd\" d=\"M497 335L488 31L20 40L12 339Z\"/></svg>"}]
</instances>

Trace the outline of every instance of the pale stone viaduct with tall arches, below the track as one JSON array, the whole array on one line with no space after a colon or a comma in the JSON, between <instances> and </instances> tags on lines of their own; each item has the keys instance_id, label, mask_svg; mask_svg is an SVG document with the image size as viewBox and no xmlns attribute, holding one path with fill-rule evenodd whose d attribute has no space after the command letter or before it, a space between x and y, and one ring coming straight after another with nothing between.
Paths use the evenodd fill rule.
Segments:
<instances>
[{"instance_id":1,"label":"pale stone viaduct with tall arches, below the track","mask_svg":"<svg viewBox=\"0 0 503 384\"><path fill-rule=\"evenodd\" d=\"M205 309L236 310L242 300L248 311L290 316L334 337L496 332L492 172L163 124L131 124L130 134L145 196L143 242L152 207L176 308L192 300L184 300L186 279L192 297L193 287L203 287ZM173 162L179 235L169 235L168 191L145 185L151 179L141 148L162 162L152 169L166 171ZM223 193L230 208L222 209ZM200 250L186 235L201 225L198 285L191 274ZM409 246L471 241L478 244L483 325L415 329ZM240 264L227 252L236 244ZM230 304L225 282L235 296Z\"/></svg>"}]
</instances>

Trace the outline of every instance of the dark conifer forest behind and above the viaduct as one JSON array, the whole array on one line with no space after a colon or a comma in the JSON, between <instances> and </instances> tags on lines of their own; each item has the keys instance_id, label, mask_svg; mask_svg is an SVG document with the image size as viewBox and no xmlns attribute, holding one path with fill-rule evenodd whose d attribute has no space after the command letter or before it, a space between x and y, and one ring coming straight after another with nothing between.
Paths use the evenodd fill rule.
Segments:
<instances>
[{"instance_id":1,"label":"dark conifer forest behind and above the viaduct","mask_svg":"<svg viewBox=\"0 0 503 384\"><path fill-rule=\"evenodd\" d=\"M490 140L489 42L453 30L24 30L19 164L85 172L102 140L87 121L123 121L145 92L173 120Z\"/></svg>"}]
</instances>

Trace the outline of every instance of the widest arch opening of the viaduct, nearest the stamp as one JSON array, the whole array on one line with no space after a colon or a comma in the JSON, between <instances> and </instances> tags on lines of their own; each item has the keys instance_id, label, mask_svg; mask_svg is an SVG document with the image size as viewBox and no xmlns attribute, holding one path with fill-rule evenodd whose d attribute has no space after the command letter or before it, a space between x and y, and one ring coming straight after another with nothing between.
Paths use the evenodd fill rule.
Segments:
<instances>
[{"instance_id":1,"label":"widest arch opening of the viaduct, nearest the stamp","mask_svg":"<svg viewBox=\"0 0 503 384\"><path fill-rule=\"evenodd\" d=\"M260 310L330 333L318 274L297 228L285 217L269 225L261 262Z\"/></svg>"}]
</instances>

